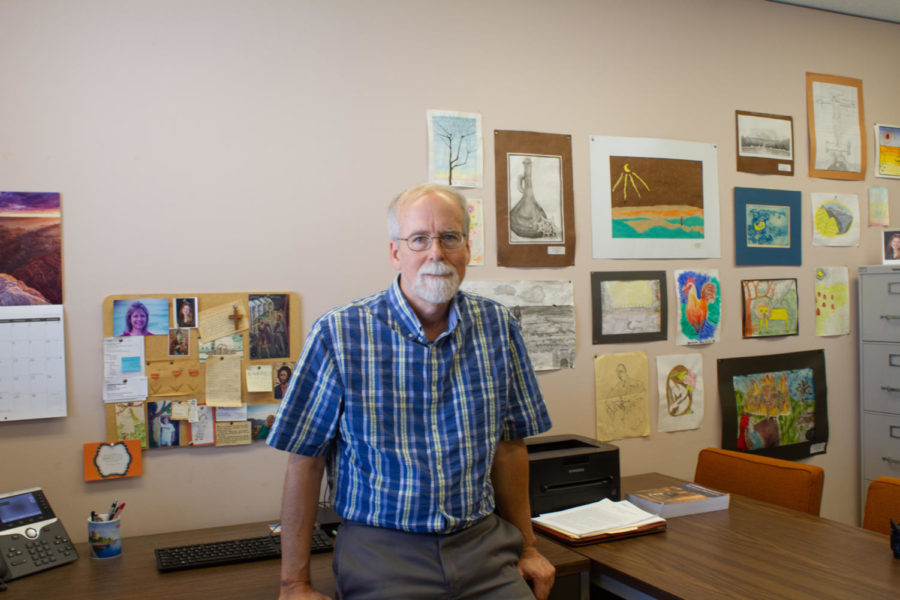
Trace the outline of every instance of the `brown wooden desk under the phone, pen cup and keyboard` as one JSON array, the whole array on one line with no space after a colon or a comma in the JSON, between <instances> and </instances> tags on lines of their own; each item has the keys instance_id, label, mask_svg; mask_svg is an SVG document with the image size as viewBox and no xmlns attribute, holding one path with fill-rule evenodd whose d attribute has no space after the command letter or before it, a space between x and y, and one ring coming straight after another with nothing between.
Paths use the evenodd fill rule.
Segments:
<instances>
[{"instance_id":1,"label":"brown wooden desk under the phone, pen cup and keyboard","mask_svg":"<svg viewBox=\"0 0 900 600\"><path fill-rule=\"evenodd\" d=\"M133 600L134 598L166 598L166 600L275 600L278 598L280 561L253 563L160 573L156 570L155 548L216 542L266 535L265 523L215 527L125 538L122 556L105 560L90 557L87 543L76 544L79 559L43 573L15 579L0 594L2 600ZM541 538L538 547L556 565L561 590L581 588L564 598L587 598L587 573L590 561L565 546ZM568 577L567 577L568 576ZM313 585L323 594L334 597L331 554L312 558ZM566 580L569 581L569 585Z\"/></svg>"}]
</instances>

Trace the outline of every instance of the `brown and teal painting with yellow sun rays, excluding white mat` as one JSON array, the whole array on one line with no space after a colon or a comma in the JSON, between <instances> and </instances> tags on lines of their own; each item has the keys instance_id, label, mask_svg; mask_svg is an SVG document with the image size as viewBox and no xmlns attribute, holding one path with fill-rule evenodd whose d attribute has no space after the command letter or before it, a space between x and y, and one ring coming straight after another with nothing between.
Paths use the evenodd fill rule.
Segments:
<instances>
[{"instance_id":1,"label":"brown and teal painting with yellow sun rays, excluding white mat","mask_svg":"<svg viewBox=\"0 0 900 600\"><path fill-rule=\"evenodd\" d=\"M610 156L613 238L702 239L703 162Z\"/></svg>"}]
</instances>

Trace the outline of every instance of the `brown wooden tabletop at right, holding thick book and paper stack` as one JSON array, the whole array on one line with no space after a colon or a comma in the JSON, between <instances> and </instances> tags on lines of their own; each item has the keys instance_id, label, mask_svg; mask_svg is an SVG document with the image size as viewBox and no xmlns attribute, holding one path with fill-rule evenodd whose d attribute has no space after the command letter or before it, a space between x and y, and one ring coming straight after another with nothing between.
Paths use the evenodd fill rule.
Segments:
<instances>
[{"instance_id":1,"label":"brown wooden tabletop at right, holding thick book and paper stack","mask_svg":"<svg viewBox=\"0 0 900 600\"><path fill-rule=\"evenodd\" d=\"M681 482L651 473L623 478L622 489ZM728 510L671 518L665 533L576 550L592 579L655 598L900 598L888 536L735 494Z\"/></svg>"}]
</instances>

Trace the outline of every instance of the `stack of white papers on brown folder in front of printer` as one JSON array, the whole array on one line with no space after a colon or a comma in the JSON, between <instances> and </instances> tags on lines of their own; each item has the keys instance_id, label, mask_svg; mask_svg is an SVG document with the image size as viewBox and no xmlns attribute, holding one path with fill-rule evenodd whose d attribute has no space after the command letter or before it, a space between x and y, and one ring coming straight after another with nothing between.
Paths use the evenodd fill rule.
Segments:
<instances>
[{"instance_id":1,"label":"stack of white papers on brown folder in front of printer","mask_svg":"<svg viewBox=\"0 0 900 600\"><path fill-rule=\"evenodd\" d=\"M539 531L575 545L656 533L666 528L664 518L627 500L615 502L609 498L545 513L533 517L531 522Z\"/></svg>"}]
</instances>

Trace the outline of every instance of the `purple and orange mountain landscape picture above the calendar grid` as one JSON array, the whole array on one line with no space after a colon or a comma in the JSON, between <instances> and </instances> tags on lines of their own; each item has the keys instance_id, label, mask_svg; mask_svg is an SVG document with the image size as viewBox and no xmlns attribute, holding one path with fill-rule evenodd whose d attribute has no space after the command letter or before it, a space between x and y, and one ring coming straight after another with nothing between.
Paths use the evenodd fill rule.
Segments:
<instances>
[{"instance_id":1,"label":"purple and orange mountain landscape picture above the calendar grid","mask_svg":"<svg viewBox=\"0 0 900 600\"><path fill-rule=\"evenodd\" d=\"M0 192L0 306L62 304L59 194Z\"/></svg>"}]
</instances>

